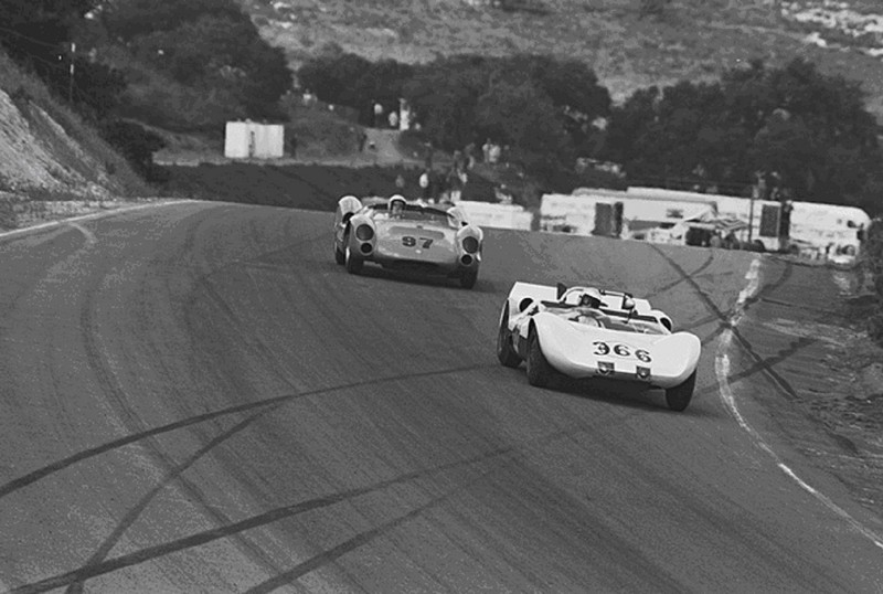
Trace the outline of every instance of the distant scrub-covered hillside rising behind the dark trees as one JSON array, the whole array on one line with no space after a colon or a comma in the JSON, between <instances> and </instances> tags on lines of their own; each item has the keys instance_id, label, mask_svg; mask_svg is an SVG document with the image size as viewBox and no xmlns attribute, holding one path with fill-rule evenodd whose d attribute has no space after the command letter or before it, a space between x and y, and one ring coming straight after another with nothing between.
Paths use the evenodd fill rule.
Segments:
<instances>
[{"instance_id":1,"label":"distant scrub-covered hillside rising behind the dark trees","mask_svg":"<svg viewBox=\"0 0 883 594\"><path fill-rule=\"evenodd\" d=\"M326 43L377 60L553 53L586 60L615 100L650 85L717 78L754 57L796 56L859 81L883 123L879 0L828 8L821 0L671 0L659 17L640 0L238 0L299 66ZM822 23L827 23L822 24Z\"/></svg>"}]
</instances>

